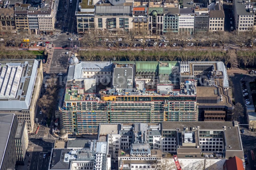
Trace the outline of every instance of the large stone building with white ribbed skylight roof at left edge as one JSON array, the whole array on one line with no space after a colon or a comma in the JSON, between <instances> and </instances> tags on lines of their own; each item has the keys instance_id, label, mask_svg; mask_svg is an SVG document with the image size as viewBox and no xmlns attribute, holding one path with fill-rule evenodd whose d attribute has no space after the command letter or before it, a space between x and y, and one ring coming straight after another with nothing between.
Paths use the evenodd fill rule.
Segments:
<instances>
[{"instance_id":1,"label":"large stone building with white ribbed skylight roof at left edge","mask_svg":"<svg viewBox=\"0 0 256 170\"><path fill-rule=\"evenodd\" d=\"M42 63L35 59L2 59L0 66L0 113L15 114L32 132L43 80Z\"/></svg>"}]
</instances>

